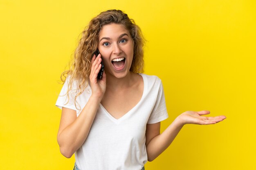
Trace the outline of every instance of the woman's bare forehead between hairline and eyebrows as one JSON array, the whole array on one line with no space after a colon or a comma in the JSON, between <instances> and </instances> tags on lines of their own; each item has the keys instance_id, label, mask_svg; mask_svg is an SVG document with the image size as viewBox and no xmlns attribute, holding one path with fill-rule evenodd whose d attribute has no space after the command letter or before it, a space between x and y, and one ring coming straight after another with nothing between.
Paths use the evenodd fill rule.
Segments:
<instances>
[{"instance_id":1,"label":"woman's bare forehead between hairline and eyebrows","mask_svg":"<svg viewBox=\"0 0 256 170\"><path fill-rule=\"evenodd\" d=\"M124 25L115 23L107 24L101 28L101 31L99 32L99 39L101 37L115 37L123 33L130 35L129 31L125 28Z\"/></svg>"}]
</instances>

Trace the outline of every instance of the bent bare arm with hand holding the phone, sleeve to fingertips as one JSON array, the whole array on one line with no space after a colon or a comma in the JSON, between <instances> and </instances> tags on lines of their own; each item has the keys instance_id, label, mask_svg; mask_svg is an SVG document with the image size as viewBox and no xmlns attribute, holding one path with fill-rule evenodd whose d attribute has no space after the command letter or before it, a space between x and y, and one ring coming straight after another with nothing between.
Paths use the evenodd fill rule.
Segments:
<instances>
[{"instance_id":1,"label":"bent bare arm with hand holding the phone, sleeve to fingertips","mask_svg":"<svg viewBox=\"0 0 256 170\"><path fill-rule=\"evenodd\" d=\"M95 62L94 62L95 61ZM78 150L87 138L94 121L99 103L106 91L106 74L103 73L101 80L97 80L97 75L101 69L100 55L92 58L92 69L90 73L90 87L92 95L78 117L76 111L62 108L61 122L58 130L57 141L61 154L67 158Z\"/></svg>"}]
</instances>

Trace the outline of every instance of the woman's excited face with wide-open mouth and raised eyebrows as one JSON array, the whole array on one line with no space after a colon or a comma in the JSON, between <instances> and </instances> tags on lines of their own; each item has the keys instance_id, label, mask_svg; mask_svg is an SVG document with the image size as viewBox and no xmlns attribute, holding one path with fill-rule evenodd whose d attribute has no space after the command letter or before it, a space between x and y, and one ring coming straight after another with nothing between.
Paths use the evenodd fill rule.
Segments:
<instances>
[{"instance_id":1,"label":"woman's excited face with wide-open mouth and raised eyebrows","mask_svg":"<svg viewBox=\"0 0 256 170\"><path fill-rule=\"evenodd\" d=\"M101 28L98 49L107 75L123 78L129 73L133 47L132 37L123 25L112 23Z\"/></svg>"}]
</instances>

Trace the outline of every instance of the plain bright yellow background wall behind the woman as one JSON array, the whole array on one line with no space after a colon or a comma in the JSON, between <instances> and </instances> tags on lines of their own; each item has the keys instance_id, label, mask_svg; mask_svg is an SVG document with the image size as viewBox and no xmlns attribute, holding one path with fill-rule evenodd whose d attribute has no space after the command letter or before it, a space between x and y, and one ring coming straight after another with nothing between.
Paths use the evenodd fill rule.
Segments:
<instances>
[{"instance_id":1,"label":"plain bright yellow background wall behind the woman","mask_svg":"<svg viewBox=\"0 0 256 170\"><path fill-rule=\"evenodd\" d=\"M148 40L145 73L159 76L169 118L225 115L185 125L146 170L256 169L256 1L0 0L0 169L71 170L59 152L58 84L90 19L121 9Z\"/></svg>"}]
</instances>

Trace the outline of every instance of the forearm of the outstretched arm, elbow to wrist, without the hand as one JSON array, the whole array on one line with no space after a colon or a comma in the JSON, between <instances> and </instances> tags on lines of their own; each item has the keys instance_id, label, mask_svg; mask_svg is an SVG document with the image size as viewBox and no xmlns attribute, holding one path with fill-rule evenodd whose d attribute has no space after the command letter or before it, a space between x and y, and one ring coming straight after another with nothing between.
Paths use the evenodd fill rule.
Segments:
<instances>
[{"instance_id":1,"label":"forearm of the outstretched arm, elbow to wrist, without the hand","mask_svg":"<svg viewBox=\"0 0 256 170\"><path fill-rule=\"evenodd\" d=\"M168 146L173 142L182 127L183 124L180 122L179 118L176 118L163 133L151 139L146 146L148 161L153 161L162 152L164 152L164 150L166 150L166 148L168 148Z\"/></svg>"}]
</instances>

